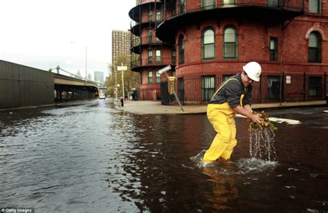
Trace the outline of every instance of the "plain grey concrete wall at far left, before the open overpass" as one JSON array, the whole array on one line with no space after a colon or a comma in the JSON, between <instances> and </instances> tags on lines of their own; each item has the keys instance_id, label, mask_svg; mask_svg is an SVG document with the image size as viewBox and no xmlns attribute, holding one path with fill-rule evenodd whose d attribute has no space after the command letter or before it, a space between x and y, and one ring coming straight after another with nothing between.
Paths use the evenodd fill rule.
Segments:
<instances>
[{"instance_id":1,"label":"plain grey concrete wall at far left, before the open overpass","mask_svg":"<svg viewBox=\"0 0 328 213\"><path fill-rule=\"evenodd\" d=\"M0 60L0 108L54 103L54 74Z\"/></svg>"}]
</instances>

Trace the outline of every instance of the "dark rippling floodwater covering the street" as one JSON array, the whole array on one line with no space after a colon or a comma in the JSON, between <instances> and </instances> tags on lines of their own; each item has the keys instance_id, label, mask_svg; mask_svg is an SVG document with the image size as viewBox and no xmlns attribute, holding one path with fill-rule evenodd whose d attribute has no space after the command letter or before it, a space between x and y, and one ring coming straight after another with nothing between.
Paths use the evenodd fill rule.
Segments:
<instances>
[{"instance_id":1,"label":"dark rippling floodwater covering the street","mask_svg":"<svg viewBox=\"0 0 328 213\"><path fill-rule=\"evenodd\" d=\"M199 167L205 114L134 115L109 101L0 111L0 207L35 212L328 212L327 108L266 110L276 161L250 158L236 118L230 162ZM224 211L224 212L225 212Z\"/></svg>"}]
</instances>

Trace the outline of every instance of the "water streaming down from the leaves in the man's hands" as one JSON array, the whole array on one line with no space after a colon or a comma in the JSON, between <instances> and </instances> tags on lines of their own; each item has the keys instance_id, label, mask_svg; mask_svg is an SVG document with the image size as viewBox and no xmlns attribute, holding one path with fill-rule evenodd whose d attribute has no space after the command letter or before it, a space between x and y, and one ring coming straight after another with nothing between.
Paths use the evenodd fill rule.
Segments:
<instances>
[{"instance_id":1,"label":"water streaming down from the leaves in the man's hands","mask_svg":"<svg viewBox=\"0 0 328 213\"><path fill-rule=\"evenodd\" d=\"M265 161L276 161L275 133L271 128L263 130L252 130L249 134L249 154L255 159Z\"/></svg>"}]
</instances>

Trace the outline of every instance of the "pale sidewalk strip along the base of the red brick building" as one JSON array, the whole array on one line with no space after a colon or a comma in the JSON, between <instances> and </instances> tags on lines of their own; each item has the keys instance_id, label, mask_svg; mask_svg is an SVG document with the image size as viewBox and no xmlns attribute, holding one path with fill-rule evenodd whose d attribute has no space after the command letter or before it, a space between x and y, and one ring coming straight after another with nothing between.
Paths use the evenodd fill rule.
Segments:
<instances>
[{"instance_id":1,"label":"pale sidewalk strip along the base of the red brick building","mask_svg":"<svg viewBox=\"0 0 328 213\"><path fill-rule=\"evenodd\" d=\"M255 103L253 109L266 108L296 108L304 106L327 106L326 101L306 101L290 103ZM183 105L183 112L179 105L161 105L161 101L126 101L124 107L118 106L119 110L133 114L193 114L206 113L207 105Z\"/></svg>"}]
</instances>

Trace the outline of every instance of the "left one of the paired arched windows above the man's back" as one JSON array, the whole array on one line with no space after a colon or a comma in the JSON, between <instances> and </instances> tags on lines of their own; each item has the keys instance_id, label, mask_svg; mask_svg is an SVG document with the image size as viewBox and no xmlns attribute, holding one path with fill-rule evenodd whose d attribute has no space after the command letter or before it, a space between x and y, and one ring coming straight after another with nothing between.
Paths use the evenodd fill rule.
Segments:
<instances>
[{"instance_id":1,"label":"left one of the paired arched windows above the man's back","mask_svg":"<svg viewBox=\"0 0 328 213\"><path fill-rule=\"evenodd\" d=\"M201 33L201 56L203 60L215 59L215 32L212 28Z\"/></svg>"}]
</instances>

